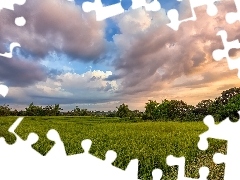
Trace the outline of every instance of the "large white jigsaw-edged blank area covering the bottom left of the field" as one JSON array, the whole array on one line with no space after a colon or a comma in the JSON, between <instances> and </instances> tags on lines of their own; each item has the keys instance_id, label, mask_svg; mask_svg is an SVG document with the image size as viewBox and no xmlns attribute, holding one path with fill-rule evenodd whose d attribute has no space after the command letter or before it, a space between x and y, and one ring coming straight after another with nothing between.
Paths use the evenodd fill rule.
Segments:
<instances>
[{"instance_id":1,"label":"large white jigsaw-edged blank area covering the bottom left of the field","mask_svg":"<svg viewBox=\"0 0 240 180\"><path fill-rule=\"evenodd\" d=\"M37 180L138 180L137 159L131 160L125 170L117 168L112 165L117 157L115 151L107 151L105 160L89 154L92 144L89 139L82 141L83 153L67 156L58 132L53 129L47 133L47 137L55 144L45 156L42 156L32 148L38 140L35 133L30 133L26 141L15 133L22 120L23 117L18 118L9 128L9 132L16 136L15 144L8 145L4 138L0 138L1 177L7 177L5 179L8 180L17 178L32 180L33 177ZM160 180L162 170L154 169L152 176L153 180Z\"/></svg>"}]
</instances>

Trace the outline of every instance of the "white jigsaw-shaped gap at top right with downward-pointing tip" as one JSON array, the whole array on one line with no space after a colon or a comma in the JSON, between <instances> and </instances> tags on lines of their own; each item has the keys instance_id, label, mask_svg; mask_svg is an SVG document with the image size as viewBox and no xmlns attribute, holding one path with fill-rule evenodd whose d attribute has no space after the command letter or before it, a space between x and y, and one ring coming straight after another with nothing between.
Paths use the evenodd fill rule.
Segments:
<instances>
[{"instance_id":1,"label":"white jigsaw-shaped gap at top right with downward-pointing tip","mask_svg":"<svg viewBox=\"0 0 240 180\"><path fill-rule=\"evenodd\" d=\"M173 30L177 31L179 29L179 25L181 23L187 22L187 21L196 21L197 16L196 16L194 8L204 6L204 5L207 6L207 14L209 16L215 16L218 12L218 9L215 4L216 1L221 1L221 0L201 0L201 1L189 0L192 17L186 18L183 20L179 20L179 12L176 9L169 10L167 12L167 16L170 20L170 23L168 23L167 26L169 26Z\"/></svg>"}]
</instances>

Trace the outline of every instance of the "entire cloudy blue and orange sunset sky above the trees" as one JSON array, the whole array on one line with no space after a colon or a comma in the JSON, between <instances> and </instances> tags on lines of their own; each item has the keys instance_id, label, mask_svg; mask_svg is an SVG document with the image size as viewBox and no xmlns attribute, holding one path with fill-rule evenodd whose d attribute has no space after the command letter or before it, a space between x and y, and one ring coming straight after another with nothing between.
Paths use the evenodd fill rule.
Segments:
<instances>
[{"instance_id":1,"label":"entire cloudy blue and orange sunset sky above the trees","mask_svg":"<svg viewBox=\"0 0 240 180\"><path fill-rule=\"evenodd\" d=\"M132 10L123 0L123 14L96 21L95 12L82 10L84 0L26 0L15 10L0 10L0 53L19 42L12 58L0 56L0 84L9 87L1 104L24 109L60 104L89 110L116 110L122 103L144 110L148 100L183 100L196 105L214 99L223 90L239 87L237 70L226 60L215 61L212 52L223 48L217 32L228 40L239 39L239 22L229 25L231 1L217 5L209 16L206 6L197 7L197 21L182 23L178 31L166 24L167 12L177 9L180 19L191 17L188 0L160 0L157 12ZM118 0L102 0L107 6ZM26 25L14 24L23 16ZM238 57L231 50L231 58Z\"/></svg>"}]
</instances>

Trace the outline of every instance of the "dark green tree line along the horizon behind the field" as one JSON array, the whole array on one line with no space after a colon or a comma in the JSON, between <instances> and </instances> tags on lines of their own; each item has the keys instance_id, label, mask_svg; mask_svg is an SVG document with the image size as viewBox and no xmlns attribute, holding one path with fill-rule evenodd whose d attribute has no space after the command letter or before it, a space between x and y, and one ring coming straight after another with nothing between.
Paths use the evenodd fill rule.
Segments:
<instances>
[{"instance_id":1,"label":"dark green tree line along the horizon behind the field","mask_svg":"<svg viewBox=\"0 0 240 180\"><path fill-rule=\"evenodd\" d=\"M229 117L235 121L239 119L240 110L240 87L230 88L221 93L214 100L207 99L200 101L196 106L188 105L182 100L167 100L162 102L149 100L145 104L145 111L130 110L128 105L123 103L114 111L89 111L76 106L73 110L63 112L59 104L37 106L31 103L25 110L12 110L9 105L0 106L0 116L104 116L120 117L122 119L142 119L151 121L202 121L211 114L218 121Z\"/></svg>"}]
</instances>

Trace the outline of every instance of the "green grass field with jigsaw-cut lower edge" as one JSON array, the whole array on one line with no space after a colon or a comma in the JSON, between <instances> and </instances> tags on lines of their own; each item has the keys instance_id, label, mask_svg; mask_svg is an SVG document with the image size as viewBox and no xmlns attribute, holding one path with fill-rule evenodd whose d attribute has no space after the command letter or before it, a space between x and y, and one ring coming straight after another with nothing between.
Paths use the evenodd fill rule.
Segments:
<instances>
[{"instance_id":1,"label":"green grass field with jigsaw-cut lower edge","mask_svg":"<svg viewBox=\"0 0 240 180\"><path fill-rule=\"evenodd\" d=\"M7 129L17 117L0 118L0 136L10 144L15 136ZM83 152L81 141L91 139L90 153L105 159L108 150L117 152L114 166L125 169L131 159L139 160L139 178L151 179L155 168L163 170L162 179L177 177L177 166L166 164L166 157L174 155L186 158L185 175L198 178L201 166L210 168L208 179L223 179L224 164L214 164L212 157L216 152L225 153L226 142L210 139L209 149L201 151L197 147L198 136L207 130L203 122L121 122L118 118L91 117L25 117L16 133L27 138L30 132L39 135L39 141L33 146L45 155L53 142L46 138L48 130L56 129L67 154Z\"/></svg>"}]
</instances>

